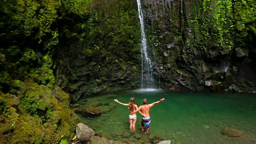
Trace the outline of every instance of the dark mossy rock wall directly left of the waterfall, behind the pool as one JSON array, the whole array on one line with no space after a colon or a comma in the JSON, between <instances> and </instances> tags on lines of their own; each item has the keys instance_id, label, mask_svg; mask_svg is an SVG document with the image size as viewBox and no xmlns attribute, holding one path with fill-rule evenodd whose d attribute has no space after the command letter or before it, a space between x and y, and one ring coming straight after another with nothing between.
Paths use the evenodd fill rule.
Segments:
<instances>
[{"instance_id":1,"label":"dark mossy rock wall directly left of the waterfall, behind the pool","mask_svg":"<svg viewBox=\"0 0 256 144\"><path fill-rule=\"evenodd\" d=\"M136 1L95 0L59 21L56 84L75 99L140 86Z\"/></svg>"}]
</instances>

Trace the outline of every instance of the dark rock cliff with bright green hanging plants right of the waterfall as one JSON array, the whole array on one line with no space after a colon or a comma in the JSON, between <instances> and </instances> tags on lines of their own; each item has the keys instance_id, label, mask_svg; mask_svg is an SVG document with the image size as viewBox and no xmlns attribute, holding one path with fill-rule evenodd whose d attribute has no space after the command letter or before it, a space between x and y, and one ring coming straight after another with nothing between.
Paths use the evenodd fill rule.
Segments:
<instances>
[{"instance_id":1,"label":"dark rock cliff with bright green hanging plants right of the waterfall","mask_svg":"<svg viewBox=\"0 0 256 144\"><path fill-rule=\"evenodd\" d=\"M161 88L255 90L256 2L142 1Z\"/></svg>"}]
</instances>

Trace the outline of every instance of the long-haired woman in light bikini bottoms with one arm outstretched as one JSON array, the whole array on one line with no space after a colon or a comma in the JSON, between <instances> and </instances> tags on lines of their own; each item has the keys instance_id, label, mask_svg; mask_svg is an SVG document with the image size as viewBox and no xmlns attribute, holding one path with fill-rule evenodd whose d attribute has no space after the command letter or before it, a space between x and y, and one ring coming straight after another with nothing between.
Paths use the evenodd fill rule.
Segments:
<instances>
[{"instance_id":1,"label":"long-haired woman in light bikini bottoms with one arm outstretched","mask_svg":"<svg viewBox=\"0 0 256 144\"><path fill-rule=\"evenodd\" d=\"M137 104L135 103L135 99L134 98L130 98L130 102L129 104L124 104L122 102L119 102L117 99L114 99L115 102L117 102L118 104L122 104L123 106L128 106L128 109L131 112L135 111L138 109ZM145 114L142 114L142 112L138 111L143 117L146 117ZM136 125L136 121L137 121L137 115L136 113L129 115L129 122L130 122L130 131L134 131L135 130L135 125Z\"/></svg>"}]
</instances>

